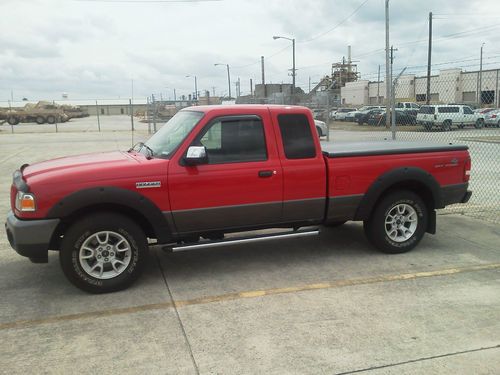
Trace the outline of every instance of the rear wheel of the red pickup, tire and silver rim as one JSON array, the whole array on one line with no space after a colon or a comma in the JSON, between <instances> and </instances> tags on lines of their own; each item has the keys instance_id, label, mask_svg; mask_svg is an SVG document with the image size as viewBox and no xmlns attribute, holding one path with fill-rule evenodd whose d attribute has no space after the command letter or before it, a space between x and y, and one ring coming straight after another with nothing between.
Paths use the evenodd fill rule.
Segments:
<instances>
[{"instance_id":1,"label":"rear wheel of the red pickup, tire and silver rim","mask_svg":"<svg viewBox=\"0 0 500 375\"><path fill-rule=\"evenodd\" d=\"M397 207L405 207L408 210L407 207L411 207L413 214L407 215L405 221L398 222L399 219L394 211ZM389 218L394 219L392 224L386 224L386 219L389 220ZM412 222L406 221L408 218L416 219L414 228L412 228ZM363 224L365 234L372 245L384 253L398 254L410 251L417 246L425 234L428 220L428 210L423 200L411 191L398 190L383 197L370 218ZM403 230L395 228L397 225L406 228L403 229L405 232L410 232L406 240L401 238ZM390 237L389 235L394 232L395 238Z\"/></svg>"}]
</instances>

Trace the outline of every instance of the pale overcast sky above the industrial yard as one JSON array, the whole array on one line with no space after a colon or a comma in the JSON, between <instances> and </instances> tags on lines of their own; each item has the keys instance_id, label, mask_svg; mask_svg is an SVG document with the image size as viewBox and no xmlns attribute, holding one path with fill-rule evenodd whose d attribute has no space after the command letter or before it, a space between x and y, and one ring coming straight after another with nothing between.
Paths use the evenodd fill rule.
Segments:
<instances>
[{"instance_id":1,"label":"pale overcast sky above the industrial yard","mask_svg":"<svg viewBox=\"0 0 500 375\"><path fill-rule=\"evenodd\" d=\"M173 98L194 91L232 94L240 79L291 83L308 91L347 58L361 79L385 72L384 0L1 0L0 102L28 98ZM394 71L426 74L428 14L433 12L433 72L500 68L498 0L390 0ZM187 77L189 76L189 77Z\"/></svg>"}]
</instances>

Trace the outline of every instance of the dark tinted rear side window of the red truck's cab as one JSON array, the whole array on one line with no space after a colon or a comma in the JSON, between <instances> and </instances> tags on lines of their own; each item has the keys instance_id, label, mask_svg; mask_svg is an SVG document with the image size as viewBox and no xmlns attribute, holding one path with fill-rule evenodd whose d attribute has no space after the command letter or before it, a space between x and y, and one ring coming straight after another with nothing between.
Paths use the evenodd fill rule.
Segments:
<instances>
[{"instance_id":1,"label":"dark tinted rear side window of the red truck's cab","mask_svg":"<svg viewBox=\"0 0 500 375\"><path fill-rule=\"evenodd\" d=\"M278 123L287 159L316 157L311 127L305 115L278 115Z\"/></svg>"}]
</instances>

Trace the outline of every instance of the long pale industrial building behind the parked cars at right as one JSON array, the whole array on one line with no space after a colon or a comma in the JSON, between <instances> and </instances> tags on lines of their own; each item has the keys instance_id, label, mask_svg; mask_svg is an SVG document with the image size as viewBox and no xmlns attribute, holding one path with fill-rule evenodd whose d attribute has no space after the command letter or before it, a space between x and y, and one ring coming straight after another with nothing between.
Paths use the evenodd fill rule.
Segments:
<instances>
[{"instance_id":1,"label":"long pale industrial building behind the parked cars at right","mask_svg":"<svg viewBox=\"0 0 500 375\"><path fill-rule=\"evenodd\" d=\"M463 103L474 106L500 106L500 69L465 72L462 69L441 70L431 76L431 103ZM480 87L481 86L481 87ZM412 74L399 78L396 101L426 102L427 76ZM480 94L479 94L480 93ZM358 80L341 88L342 105L360 106L385 103L385 82Z\"/></svg>"}]
</instances>

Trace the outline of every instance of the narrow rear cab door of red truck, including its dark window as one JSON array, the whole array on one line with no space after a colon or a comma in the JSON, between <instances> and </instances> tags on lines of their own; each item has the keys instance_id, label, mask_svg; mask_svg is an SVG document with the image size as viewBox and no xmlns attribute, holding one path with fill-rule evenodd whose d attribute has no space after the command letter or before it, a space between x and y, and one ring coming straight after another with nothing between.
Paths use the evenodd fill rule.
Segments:
<instances>
[{"instance_id":1,"label":"narrow rear cab door of red truck, including its dark window","mask_svg":"<svg viewBox=\"0 0 500 375\"><path fill-rule=\"evenodd\" d=\"M315 223L325 213L326 165L310 121L303 112L273 112L283 167L283 222Z\"/></svg>"}]
</instances>

